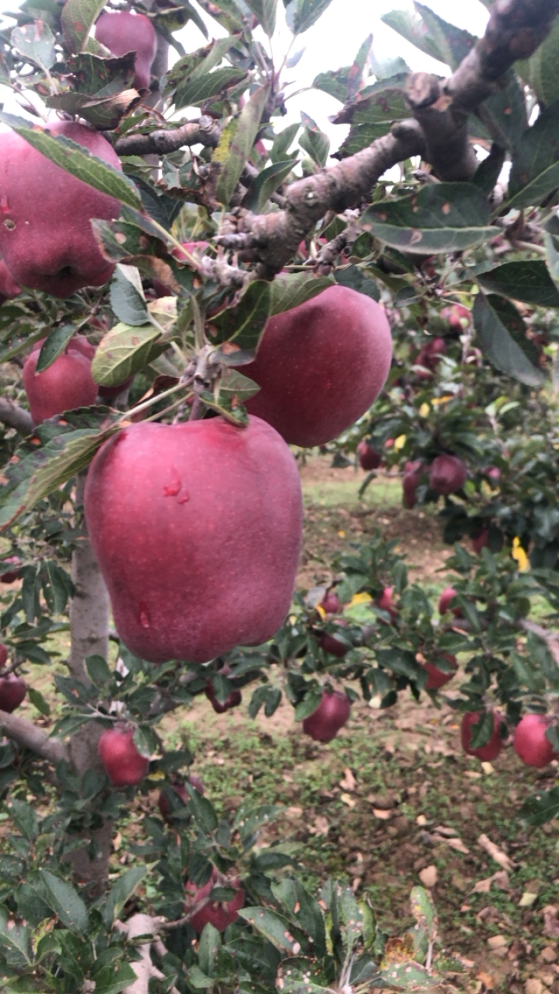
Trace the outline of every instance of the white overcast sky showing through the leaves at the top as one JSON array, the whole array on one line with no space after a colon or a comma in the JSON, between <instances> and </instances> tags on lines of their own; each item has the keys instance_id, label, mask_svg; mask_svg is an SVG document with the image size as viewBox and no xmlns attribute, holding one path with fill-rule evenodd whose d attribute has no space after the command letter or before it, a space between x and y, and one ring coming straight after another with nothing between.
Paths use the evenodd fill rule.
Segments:
<instances>
[{"instance_id":1,"label":"white overcast sky showing through the leaves at the top","mask_svg":"<svg viewBox=\"0 0 559 994\"><path fill-rule=\"evenodd\" d=\"M0 0L0 14L17 9L17 6L17 0ZM489 18L489 13L481 0L462 0L460 4L449 4L448 0L428 0L427 6L440 17L452 21L461 28L467 28L475 35L484 33ZM294 44L292 52L305 47L305 53L294 69L285 72L284 80L294 83L287 88L287 92L309 86L321 72L336 71L351 65L359 46L369 34L373 35L373 49L378 58L384 60L401 56L413 70L445 75L446 71L440 63L423 55L380 21L381 15L387 11L404 8L413 9L411 0L332 0L331 6L317 24ZM211 18L205 17L205 20L209 26L210 37L217 38L224 34ZM177 37L187 51L206 44L204 36L192 24L189 24ZM267 45L267 39L263 35L261 38ZM291 38L291 32L285 25L283 2L278 0L278 26L272 42L276 65L281 63ZM6 90L2 93L2 87L0 87L0 99L5 101L7 111L22 113L21 107L11 94L6 93ZM300 120L301 111L305 111L330 135L332 151L341 144L348 131L344 125L330 123L329 116L341 108L341 103L327 93L319 90L299 93L288 100L287 107L288 116L284 118L283 126L291 121Z\"/></svg>"}]
</instances>

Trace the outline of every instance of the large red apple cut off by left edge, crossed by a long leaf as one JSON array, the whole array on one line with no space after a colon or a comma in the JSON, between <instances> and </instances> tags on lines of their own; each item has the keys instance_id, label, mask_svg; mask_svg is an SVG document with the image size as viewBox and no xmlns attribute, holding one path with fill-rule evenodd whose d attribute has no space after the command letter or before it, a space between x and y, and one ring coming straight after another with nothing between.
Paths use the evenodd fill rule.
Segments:
<instances>
[{"instance_id":1,"label":"large red apple cut off by left edge, crossed by a long leaf","mask_svg":"<svg viewBox=\"0 0 559 994\"><path fill-rule=\"evenodd\" d=\"M112 146L91 128L57 121L45 130L121 169ZM14 131L0 134L0 212L0 252L22 286L68 297L110 277L114 265L101 255L90 220L118 218L120 204L70 176Z\"/></svg>"}]
</instances>

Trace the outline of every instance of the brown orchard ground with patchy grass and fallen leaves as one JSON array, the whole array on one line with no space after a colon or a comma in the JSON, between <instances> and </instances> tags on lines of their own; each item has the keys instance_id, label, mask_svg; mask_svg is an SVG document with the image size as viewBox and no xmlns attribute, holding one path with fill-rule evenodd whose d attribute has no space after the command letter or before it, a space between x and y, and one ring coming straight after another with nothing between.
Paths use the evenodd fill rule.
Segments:
<instances>
[{"instance_id":1,"label":"brown orchard ground with patchy grass and fallen leaves","mask_svg":"<svg viewBox=\"0 0 559 994\"><path fill-rule=\"evenodd\" d=\"M329 582L332 555L380 529L398 539L410 579L423 582L435 604L451 553L436 514L404 511L398 478L382 473L359 500L364 476L332 468L329 457L302 465L301 588ZM64 633L56 648L66 654ZM51 672L29 670L55 717ZM459 684L460 676L448 688L451 697ZM260 844L280 839L312 889L328 876L348 880L369 899L378 924L396 933L411 923L410 888L423 883L432 888L445 946L475 963L471 990L559 992L558 823L528 829L517 815L525 797L553 786L557 763L528 769L510 744L492 765L466 756L456 714L441 700L437 709L425 695L419 705L402 695L387 711L359 701L331 745L304 737L288 703L271 719L250 721L244 706L214 715L201 699L167 716L161 732L168 748L193 749L193 771L218 811L246 799L283 806ZM38 720L28 702L26 711ZM138 792L116 838L113 873L133 865L129 847L142 841L142 820L157 812L157 798L157 790ZM500 863L480 844L483 835Z\"/></svg>"}]
</instances>

